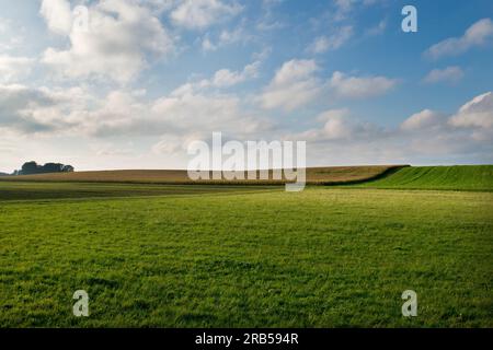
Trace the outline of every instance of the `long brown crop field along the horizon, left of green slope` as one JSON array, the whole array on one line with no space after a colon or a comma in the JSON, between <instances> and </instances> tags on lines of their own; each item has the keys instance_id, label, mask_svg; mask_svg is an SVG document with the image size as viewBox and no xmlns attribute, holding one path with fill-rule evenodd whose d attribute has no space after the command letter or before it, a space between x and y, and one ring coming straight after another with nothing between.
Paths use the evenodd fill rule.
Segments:
<instances>
[{"instance_id":1,"label":"long brown crop field along the horizon, left of green slope","mask_svg":"<svg viewBox=\"0 0 493 350\"><path fill-rule=\"evenodd\" d=\"M406 165L334 166L307 168L307 183L311 185L342 185L377 179ZM272 178L272 172L271 176ZM200 180L188 179L186 171L101 171L23 176L2 176L0 180L20 182L80 182L130 184L285 184L286 180Z\"/></svg>"}]
</instances>

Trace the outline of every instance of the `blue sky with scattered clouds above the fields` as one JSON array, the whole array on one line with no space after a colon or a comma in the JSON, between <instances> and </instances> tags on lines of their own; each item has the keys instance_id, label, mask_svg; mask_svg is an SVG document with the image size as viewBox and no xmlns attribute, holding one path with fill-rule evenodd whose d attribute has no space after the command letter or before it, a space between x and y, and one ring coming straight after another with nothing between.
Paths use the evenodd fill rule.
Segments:
<instances>
[{"instance_id":1,"label":"blue sky with scattered clouds above the fields","mask_svg":"<svg viewBox=\"0 0 493 350\"><path fill-rule=\"evenodd\" d=\"M492 62L491 0L0 0L0 172L186 168L215 131L491 164Z\"/></svg>"}]
</instances>

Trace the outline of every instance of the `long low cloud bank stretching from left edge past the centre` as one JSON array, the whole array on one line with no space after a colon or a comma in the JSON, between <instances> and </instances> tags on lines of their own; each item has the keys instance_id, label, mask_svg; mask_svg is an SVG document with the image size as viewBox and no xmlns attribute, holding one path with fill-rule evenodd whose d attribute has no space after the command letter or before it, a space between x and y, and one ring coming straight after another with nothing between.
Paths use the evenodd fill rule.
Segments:
<instances>
[{"instance_id":1,"label":"long low cloud bank stretching from left edge past the centre","mask_svg":"<svg viewBox=\"0 0 493 350\"><path fill-rule=\"evenodd\" d=\"M80 88L53 90L0 85L0 129L18 135L110 138L185 138L222 131L238 138L259 135L272 124L249 113L239 97L175 91L146 101L139 93L113 91L98 98ZM3 132L3 131L2 131Z\"/></svg>"}]
</instances>

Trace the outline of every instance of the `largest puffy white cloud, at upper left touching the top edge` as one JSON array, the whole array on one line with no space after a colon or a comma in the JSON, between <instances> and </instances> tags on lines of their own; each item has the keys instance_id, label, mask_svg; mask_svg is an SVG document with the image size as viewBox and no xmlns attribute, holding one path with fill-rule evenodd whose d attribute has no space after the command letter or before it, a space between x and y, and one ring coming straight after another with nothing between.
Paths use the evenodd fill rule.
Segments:
<instances>
[{"instance_id":1,"label":"largest puffy white cloud, at upper left touching the top edge","mask_svg":"<svg viewBox=\"0 0 493 350\"><path fill-rule=\"evenodd\" d=\"M67 0L44 0L42 4L48 27L70 39L69 49L48 48L43 55L43 62L64 77L108 77L126 83L150 58L173 50L173 40L159 19L138 2L104 0L91 5L88 31L68 27L67 7Z\"/></svg>"}]
</instances>

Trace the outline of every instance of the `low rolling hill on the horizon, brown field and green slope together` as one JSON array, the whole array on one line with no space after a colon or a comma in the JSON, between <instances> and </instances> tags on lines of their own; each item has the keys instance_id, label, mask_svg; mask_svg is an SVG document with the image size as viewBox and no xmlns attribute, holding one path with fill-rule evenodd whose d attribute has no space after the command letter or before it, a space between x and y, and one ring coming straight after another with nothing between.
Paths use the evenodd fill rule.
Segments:
<instances>
[{"instance_id":1,"label":"low rolling hill on the horizon, brown field and green slope together","mask_svg":"<svg viewBox=\"0 0 493 350\"><path fill-rule=\"evenodd\" d=\"M272 178L272 174L270 176ZM186 171L102 171L2 176L0 182L106 183L148 185L283 185L287 180L198 180ZM308 185L393 189L493 190L493 165L456 166L334 166L307 168Z\"/></svg>"}]
</instances>

